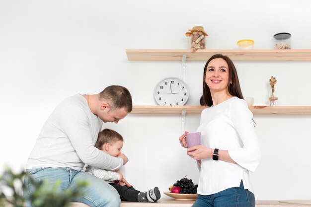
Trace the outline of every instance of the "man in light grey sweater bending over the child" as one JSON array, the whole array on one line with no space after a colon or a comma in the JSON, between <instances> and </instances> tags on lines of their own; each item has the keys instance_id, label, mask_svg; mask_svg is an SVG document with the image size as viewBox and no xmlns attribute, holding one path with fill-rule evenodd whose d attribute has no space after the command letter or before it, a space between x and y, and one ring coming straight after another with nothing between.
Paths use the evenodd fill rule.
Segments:
<instances>
[{"instance_id":1,"label":"man in light grey sweater bending over the child","mask_svg":"<svg viewBox=\"0 0 311 207\"><path fill-rule=\"evenodd\" d=\"M115 170L127 163L124 154L113 157L94 144L103 122L117 124L131 111L132 97L123 86L112 85L98 94L65 99L44 124L29 155L27 172L35 180L48 179L51 186L60 180L61 190L74 189L78 180L87 181L83 196L74 202L90 207L119 207L120 196L113 187L81 170L84 164ZM27 177L24 183L26 195L31 194L33 186Z\"/></svg>"}]
</instances>

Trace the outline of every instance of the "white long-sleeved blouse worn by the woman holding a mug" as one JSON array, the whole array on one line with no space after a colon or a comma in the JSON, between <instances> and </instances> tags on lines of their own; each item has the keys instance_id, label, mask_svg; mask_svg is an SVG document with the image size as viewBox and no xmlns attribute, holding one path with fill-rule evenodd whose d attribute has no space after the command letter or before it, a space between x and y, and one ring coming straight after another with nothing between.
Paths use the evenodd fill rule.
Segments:
<instances>
[{"instance_id":1,"label":"white long-sleeved blouse worn by the woman holding a mug","mask_svg":"<svg viewBox=\"0 0 311 207\"><path fill-rule=\"evenodd\" d=\"M202 144L211 148L228 150L237 163L207 158L201 160L197 193L211 195L232 187L253 192L249 171L255 171L261 160L260 145L255 133L253 115L243 99L233 97L201 113Z\"/></svg>"}]
</instances>

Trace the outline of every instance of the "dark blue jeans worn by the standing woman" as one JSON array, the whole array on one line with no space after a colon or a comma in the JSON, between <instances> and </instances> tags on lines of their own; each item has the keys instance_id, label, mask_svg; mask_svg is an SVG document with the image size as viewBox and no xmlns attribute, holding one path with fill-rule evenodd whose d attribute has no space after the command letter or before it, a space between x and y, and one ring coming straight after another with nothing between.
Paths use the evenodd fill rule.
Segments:
<instances>
[{"instance_id":1,"label":"dark blue jeans worn by the standing woman","mask_svg":"<svg viewBox=\"0 0 311 207\"><path fill-rule=\"evenodd\" d=\"M255 196L244 189L241 181L240 187L233 187L216 194L198 195L192 207L254 207Z\"/></svg>"}]
</instances>

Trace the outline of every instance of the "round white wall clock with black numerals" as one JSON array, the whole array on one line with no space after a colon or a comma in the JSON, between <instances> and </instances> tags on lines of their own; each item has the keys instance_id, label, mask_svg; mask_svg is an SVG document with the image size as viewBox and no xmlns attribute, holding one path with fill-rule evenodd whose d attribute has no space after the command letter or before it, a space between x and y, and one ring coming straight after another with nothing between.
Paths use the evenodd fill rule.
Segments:
<instances>
[{"instance_id":1,"label":"round white wall clock with black numerals","mask_svg":"<svg viewBox=\"0 0 311 207\"><path fill-rule=\"evenodd\" d=\"M179 78L167 77L156 85L155 99L161 106L181 106L188 98L188 87Z\"/></svg>"}]
</instances>

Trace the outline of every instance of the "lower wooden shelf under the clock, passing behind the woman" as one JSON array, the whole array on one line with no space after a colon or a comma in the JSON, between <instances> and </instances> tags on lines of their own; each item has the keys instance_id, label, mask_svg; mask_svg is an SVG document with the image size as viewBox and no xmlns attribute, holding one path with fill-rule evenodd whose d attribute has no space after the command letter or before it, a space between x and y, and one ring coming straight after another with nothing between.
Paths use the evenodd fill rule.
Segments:
<instances>
[{"instance_id":1,"label":"lower wooden shelf under the clock, passing behind the woman","mask_svg":"<svg viewBox=\"0 0 311 207\"><path fill-rule=\"evenodd\" d=\"M200 114L205 106L133 106L131 114ZM253 114L311 114L311 106L252 106Z\"/></svg>"}]
</instances>

